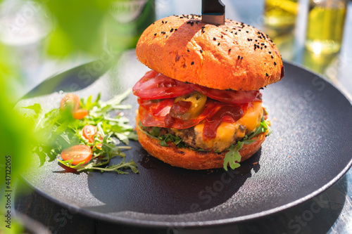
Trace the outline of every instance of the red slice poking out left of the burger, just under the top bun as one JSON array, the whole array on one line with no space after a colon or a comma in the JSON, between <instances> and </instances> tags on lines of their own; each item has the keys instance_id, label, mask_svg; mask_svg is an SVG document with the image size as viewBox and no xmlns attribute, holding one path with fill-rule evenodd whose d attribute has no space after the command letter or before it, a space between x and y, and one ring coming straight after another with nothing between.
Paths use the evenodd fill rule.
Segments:
<instances>
[{"instance_id":1,"label":"red slice poking out left of the burger, just under the top bun","mask_svg":"<svg viewBox=\"0 0 352 234\"><path fill-rule=\"evenodd\" d=\"M179 82L152 70L146 72L144 77L139 79L132 91L139 98L155 100L182 96L191 93L193 89L189 84Z\"/></svg>"}]
</instances>

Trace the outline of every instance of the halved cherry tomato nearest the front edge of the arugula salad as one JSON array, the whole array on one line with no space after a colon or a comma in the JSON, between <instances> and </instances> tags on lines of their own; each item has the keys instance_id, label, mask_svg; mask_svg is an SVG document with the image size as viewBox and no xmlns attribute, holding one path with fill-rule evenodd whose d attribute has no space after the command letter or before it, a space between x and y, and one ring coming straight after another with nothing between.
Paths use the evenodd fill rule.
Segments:
<instances>
[{"instance_id":1,"label":"halved cherry tomato nearest the front edge of the arugula salad","mask_svg":"<svg viewBox=\"0 0 352 234\"><path fill-rule=\"evenodd\" d=\"M73 145L61 152L63 160L73 160L72 164L77 165L80 162L87 164L92 159L92 149L88 145Z\"/></svg>"}]
</instances>

